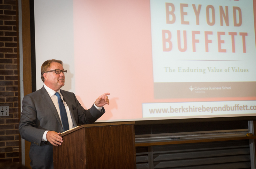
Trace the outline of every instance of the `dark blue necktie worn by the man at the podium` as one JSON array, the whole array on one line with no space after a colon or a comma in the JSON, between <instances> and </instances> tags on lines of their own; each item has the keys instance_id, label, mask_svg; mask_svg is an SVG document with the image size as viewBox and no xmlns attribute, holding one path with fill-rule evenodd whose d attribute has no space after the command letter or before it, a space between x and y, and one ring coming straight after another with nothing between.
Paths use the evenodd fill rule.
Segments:
<instances>
[{"instance_id":1,"label":"dark blue necktie worn by the man at the podium","mask_svg":"<svg viewBox=\"0 0 256 169\"><path fill-rule=\"evenodd\" d=\"M60 107L60 117L61 117L63 130L67 131L67 130L69 130L69 125L68 125L68 115L66 112L66 108L64 106L64 103L62 102L60 93L56 92L55 95L58 97L58 102L59 102L59 107Z\"/></svg>"}]
</instances>

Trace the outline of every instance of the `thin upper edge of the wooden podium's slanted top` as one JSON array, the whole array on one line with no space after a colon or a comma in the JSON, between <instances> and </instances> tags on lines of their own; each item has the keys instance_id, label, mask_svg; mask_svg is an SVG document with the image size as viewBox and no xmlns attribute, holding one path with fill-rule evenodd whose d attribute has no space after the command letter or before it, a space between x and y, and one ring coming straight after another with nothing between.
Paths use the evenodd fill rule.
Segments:
<instances>
[{"instance_id":1,"label":"thin upper edge of the wooden podium's slanted top","mask_svg":"<svg viewBox=\"0 0 256 169\"><path fill-rule=\"evenodd\" d=\"M77 126L73 129L70 129L70 130L67 130L63 133L60 134L60 136L65 136L69 133L72 133L76 130L79 130L79 129L82 129L84 127L99 127L99 126L117 126L117 125L129 125L129 124L135 124L135 121L128 121L128 122L111 122L111 123L93 123L93 124L84 124L84 125L81 125L81 126Z\"/></svg>"}]
</instances>

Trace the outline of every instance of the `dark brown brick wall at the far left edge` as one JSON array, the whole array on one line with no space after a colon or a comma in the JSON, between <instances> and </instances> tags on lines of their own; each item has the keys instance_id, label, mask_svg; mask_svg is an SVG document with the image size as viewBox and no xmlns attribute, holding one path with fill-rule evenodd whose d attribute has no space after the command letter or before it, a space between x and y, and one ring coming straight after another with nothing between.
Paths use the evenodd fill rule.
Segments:
<instances>
[{"instance_id":1,"label":"dark brown brick wall at the far left edge","mask_svg":"<svg viewBox=\"0 0 256 169\"><path fill-rule=\"evenodd\" d=\"M0 163L19 162L16 8L15 0L0 0L0 106L10 107L10 116L0 115Z\"/></svg>"}]
</instances>

